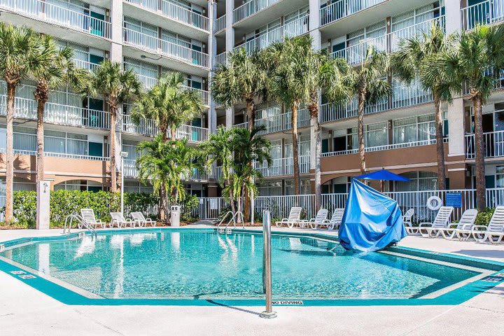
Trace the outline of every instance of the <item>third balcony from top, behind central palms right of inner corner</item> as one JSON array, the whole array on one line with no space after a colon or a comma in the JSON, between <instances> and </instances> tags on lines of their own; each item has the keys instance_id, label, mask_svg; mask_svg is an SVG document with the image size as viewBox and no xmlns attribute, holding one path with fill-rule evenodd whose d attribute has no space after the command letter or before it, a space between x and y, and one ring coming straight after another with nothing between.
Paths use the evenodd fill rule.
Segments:
<instances>
[{"instance_id":1,"label":"third balcony from top, behind central palms right of inner corner","mask_svg":"<svg viewBox=\"0 0 504 336\"><path fill-rule=\"evenodd\" d=\"M292 111L287 113L279 113L279 106L269 107L267 109L258 110L257 113L262 113L263 115L270 115L265 118L255 119L255 126L264 125L266 130L260 132L260 134L269 134L275 132L283 132L292 129ZM279 113L279 114L275 114ZM307 127L310 125L310 116L307 109L297 110L297 127ZM241 123L235 125L239 128L247 128L248 123Z\"/></svg>"}]
</instances>

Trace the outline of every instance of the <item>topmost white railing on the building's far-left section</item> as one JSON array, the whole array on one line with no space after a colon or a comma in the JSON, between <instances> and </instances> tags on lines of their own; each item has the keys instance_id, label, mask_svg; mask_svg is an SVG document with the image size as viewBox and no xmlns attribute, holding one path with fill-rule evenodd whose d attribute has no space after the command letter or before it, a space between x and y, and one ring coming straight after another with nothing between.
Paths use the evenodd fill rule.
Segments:
<instances>
[{"instance_id":1,"label":"topmost white railing on the building's far-left section","mask_svg":"<svg viewBox=\"0 0 504 336\"><path fill-rule=\"evenodd\" d=\"M42 0L0 0L0 7L95 36L111 37L111 22L93 18L86 8L77 11Z\"/></svg>"}]
</instances>

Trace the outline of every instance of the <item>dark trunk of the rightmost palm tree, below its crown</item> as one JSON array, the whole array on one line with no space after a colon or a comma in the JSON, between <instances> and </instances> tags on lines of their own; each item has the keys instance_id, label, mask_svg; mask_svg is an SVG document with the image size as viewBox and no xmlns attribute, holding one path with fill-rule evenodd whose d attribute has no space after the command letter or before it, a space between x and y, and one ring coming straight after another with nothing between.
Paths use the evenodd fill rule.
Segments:
<instances>
[{"instance_id":1,"label":"dark trunk of the rightmost palm tree, below its crown","mask_svg":"<svg viewBox=\"0 0 504 336\"><path fill-rule=\"evenodd\" d=\"M472 96L472 107L475 111L475 154L476 154L476 199L479 211L486 209L486 186L484 177L484 139L482 98L479 95Z\"/></svg>"}]
</instances>

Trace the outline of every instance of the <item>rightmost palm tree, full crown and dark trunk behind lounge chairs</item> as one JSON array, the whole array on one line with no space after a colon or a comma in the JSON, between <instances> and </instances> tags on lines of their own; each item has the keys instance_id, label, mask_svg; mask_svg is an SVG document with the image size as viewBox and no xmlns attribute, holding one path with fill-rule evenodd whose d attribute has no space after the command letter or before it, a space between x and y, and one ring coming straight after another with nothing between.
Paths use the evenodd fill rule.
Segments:
<instances>
[{"instance_id":1,"label":"rightmost palm tree, full crown and dark trunk behind lounge chairs","mask_svg":"<svg viewBox=\"0 0 504 336\"><path fill-rule=\"evenodd\" d=\"M475 165L477 208L486 208L482 106L496 87L504 69L504 26L479 25L456 36L454 51L441 64L458 83L465 83L475 118ZM461 89L461 87L459 87Z\"/></svg>"}]
</instances>

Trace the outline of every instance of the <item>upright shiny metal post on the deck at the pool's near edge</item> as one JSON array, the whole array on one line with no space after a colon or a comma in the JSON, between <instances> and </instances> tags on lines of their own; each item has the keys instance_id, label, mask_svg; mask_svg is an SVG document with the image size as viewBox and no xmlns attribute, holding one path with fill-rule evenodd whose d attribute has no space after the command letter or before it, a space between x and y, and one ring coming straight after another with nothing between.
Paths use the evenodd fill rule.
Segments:
<instances>
[{"instance_id":1,"label":"upright shiny metal post on the deck at the pool's near edge","mask_svg":"<svg viewBox=\"0 0 504 336\"><path fill-rule=\"evenodd\" d=\"M266 310L260 313L262 318L275 318L272 304L272 267L271 267L271 216L269 210L262 213L262 239L264 251L262 255L262 283L266 294Z\"/></svg>"}]
</instances>

